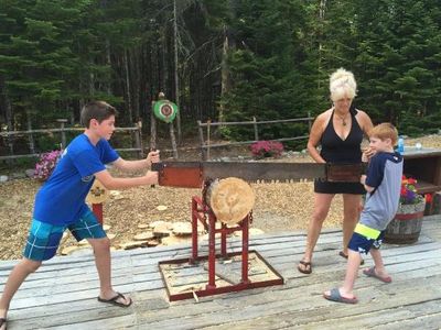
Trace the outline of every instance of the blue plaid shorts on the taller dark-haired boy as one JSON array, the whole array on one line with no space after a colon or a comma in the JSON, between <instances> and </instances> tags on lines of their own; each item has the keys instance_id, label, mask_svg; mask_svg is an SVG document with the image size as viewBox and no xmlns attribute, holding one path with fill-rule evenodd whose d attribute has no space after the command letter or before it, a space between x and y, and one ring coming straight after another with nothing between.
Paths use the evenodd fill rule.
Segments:
<instances>
[{"instance_id":1,"label":"blue plaid shorts on the taller dark-haired boy","mask_svg":"<svg viewBox=\"0 0 441 330\"><path fill-rule=\"evenodd\" d=\"M92 211L68 226L55 226L33 219L23 256L33 261L50 260L55 255L66 229L78 242L83 239L106 238L103 226Z\"/></svg>"}]
</instances>

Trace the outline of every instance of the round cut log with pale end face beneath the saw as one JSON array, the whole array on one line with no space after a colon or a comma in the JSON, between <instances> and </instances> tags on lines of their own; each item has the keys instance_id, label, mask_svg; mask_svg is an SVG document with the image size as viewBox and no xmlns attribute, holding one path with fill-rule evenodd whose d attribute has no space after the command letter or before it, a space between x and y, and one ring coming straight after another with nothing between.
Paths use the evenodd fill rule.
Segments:
<instances>
[{"instance_id":1,"label":"round cut log with pale end face beneath the saw","mask_svg":"<svg viewBox=\"0 0 441 330\"><path fill-rule=\"evenodd\" d=\"M236 177L215 180L206 190L206 202L217 220L226 224L241 221L251 211L255 200L251 187Z\"/></svg>"}]
</instances>

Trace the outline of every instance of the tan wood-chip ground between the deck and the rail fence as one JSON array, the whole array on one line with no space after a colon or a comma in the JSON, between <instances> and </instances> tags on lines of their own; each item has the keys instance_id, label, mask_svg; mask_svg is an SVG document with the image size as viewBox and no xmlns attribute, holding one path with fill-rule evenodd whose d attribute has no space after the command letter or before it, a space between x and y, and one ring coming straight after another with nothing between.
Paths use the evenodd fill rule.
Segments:
<instances>
[{"instance_id":1,"label":"tan wood-chip ground between the deck and the rail fence","mask_svg":"<svg viewBox=\"0 0 441 330\"><path fill-rule=\"evenodd\" d=\"M424 147L441 148L441 135L430 135L418 140L407 140L407 145L420 142ZM192 154L193 153L193 154ZM229 150L222 156L249 156L246 148ZM194 151L183 152L184 160L194 156ZM218 155L214 155L216 157ZM197 158L193 158L197 160ZM282 162L311 162L305 154L287 154ZM0 173L1 175L1 173ZM32 217L34 196L41 183L30 179L12 179L0 184L0 260L19 258L24 246ZM308 228L313 207L312 183L295 184L251 184L256 193L252 228L263 232L304 230ZM163 220L166 222L190 221L192 196L200 196L198 189L168 188L157 186L139 187L110 194L104 205L104 221L110 226L108 234L115 249L119 244L132 241L143 230L140 224ZM163 206L159 210L158 207ZM165 207L165 208L164 208ZM336 196L325 228L341 226L342 199ZM75 245L68 237L63 248ZM62 251L61 249L61 251Z\"/></svg>"}]
</instances>

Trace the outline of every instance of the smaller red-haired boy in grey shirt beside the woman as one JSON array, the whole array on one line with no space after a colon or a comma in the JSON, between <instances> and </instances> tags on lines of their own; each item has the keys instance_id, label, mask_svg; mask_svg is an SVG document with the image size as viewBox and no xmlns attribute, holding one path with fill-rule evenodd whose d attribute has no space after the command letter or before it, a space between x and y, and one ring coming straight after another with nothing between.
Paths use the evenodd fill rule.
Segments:
<instances>
[{"instance_id":1,"label":"smaller red-haired boy in grey shirt beside the woman","mask_svg":"<svg viewBox=\"0 0 441 330\"><path fill-rule=\"evenodd\" d=\"M361 183L367 191L366 204L348 243L349 253L343 286L323 294L324 298L332 301L346 304L358 301L354 296L353 288L362 261L361 253L367 254L370 251L375 263L374 267L363 271L365 275L378 278L384 283L391 282L383 264L379 248L384 231L398 209L402 156L394 152L394 145L398 139L394 125L381 123L369 132L369 147L374 152L374 156L369 160L367 175L363 175L361 178Z\"/></svg>"}]
</instances>

